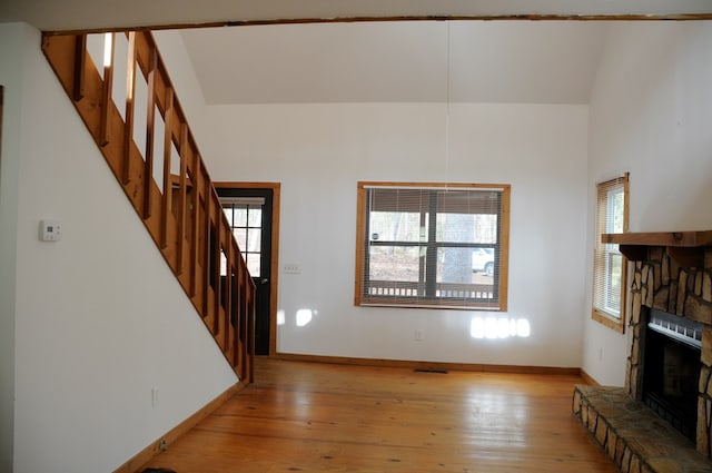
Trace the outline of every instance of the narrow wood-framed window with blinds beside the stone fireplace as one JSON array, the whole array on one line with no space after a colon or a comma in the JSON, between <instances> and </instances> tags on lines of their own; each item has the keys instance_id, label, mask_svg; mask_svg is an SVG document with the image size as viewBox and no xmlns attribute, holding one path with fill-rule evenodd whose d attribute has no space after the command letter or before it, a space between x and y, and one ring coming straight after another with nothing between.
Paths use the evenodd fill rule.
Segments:
<instances>
[{"instance_id":1,"label":"narrow wood-framed window with blinds beside the stone fireplace","mask_svg":"<svg viewBox=\"0 0 712 473\"><path fill-rule=\"evenodd\" d=\"M617 245L601 243L601 235L627 231L627 173L596 185L592 317L621 333L625 329L626 259Z\"/></svg>"}]
</instances>

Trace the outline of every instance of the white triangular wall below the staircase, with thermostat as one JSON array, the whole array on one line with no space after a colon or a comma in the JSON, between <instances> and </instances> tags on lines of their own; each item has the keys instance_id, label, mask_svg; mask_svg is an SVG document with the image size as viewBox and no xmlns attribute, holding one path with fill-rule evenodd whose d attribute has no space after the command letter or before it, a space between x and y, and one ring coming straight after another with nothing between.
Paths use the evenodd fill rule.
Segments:
<instances>
[{"instance_id":1,"label":"white triangular wall below the staircase, with thermostat","mask_svg":"<svg viewBox=\"0 0 712 473\"><path fill-rule=\"evenodd\" d=\"M2 69L22 66L16 147L3 154L3 165L19 162L14 472L111 471L236 376L61 90L39 32L0 31L20 45ZM42 218L62 223L60 242L38 240Z\"/></svg>"}]
</instances>

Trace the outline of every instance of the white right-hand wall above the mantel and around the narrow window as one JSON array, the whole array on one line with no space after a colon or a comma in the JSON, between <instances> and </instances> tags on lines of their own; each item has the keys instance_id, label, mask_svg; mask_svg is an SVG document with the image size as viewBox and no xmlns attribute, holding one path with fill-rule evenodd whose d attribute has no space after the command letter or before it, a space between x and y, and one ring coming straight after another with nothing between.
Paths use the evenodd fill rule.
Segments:
<instances>
[{"instance_id":1,"label":"white right-hand wall above the mantel and around the narrow window","mask_svg":"<svg viewBox=\"0 0 712 473\"><path fill-rule=\"evenodd\" d=\"M590 228L595 183L626 170L631 231L712 228L710 83L711 22L612 27L591 101ZM586 318L585 339L583 368L622 385L627 337Z\"/></svg>"}]
</instances>

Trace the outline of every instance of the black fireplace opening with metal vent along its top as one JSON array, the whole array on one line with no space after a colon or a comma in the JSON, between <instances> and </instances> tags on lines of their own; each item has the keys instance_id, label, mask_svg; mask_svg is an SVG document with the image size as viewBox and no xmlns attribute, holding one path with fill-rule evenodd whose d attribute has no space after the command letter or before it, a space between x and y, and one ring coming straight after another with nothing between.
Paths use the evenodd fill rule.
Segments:
<instances>
[{"instance_id":1,"label":"black fireplace opening with metal vent along its top","mask_svg":"<svg viewBox=\"0 0 712 473\"><path fill-rule=\"evenodd\" d=\"M702 324L650 309L645 332L643 402L695 441Z\"/></svg>"}]
</instances>

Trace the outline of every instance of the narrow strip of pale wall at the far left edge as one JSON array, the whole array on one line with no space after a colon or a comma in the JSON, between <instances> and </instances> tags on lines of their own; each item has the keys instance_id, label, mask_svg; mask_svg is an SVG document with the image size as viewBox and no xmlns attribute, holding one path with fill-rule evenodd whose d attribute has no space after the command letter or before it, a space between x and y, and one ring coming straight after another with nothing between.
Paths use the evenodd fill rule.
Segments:
<instances>
[{"instance_id":1,"label":"narrow strip of pale wall at the far left edge","mask_svg":"<svg viewBox=\"0 0 712 473\"><path fill-rule=\"evenodd\" d=\"M0 471L12 470L14 425L14 272L19 129L24 27L0 24L0 85L4 86L0 149Z\"/></svg>"}]
</instances>

